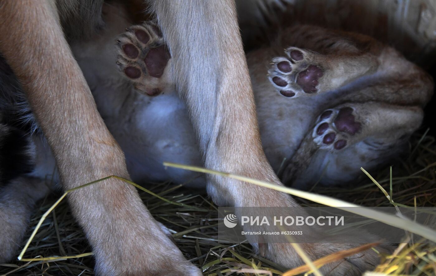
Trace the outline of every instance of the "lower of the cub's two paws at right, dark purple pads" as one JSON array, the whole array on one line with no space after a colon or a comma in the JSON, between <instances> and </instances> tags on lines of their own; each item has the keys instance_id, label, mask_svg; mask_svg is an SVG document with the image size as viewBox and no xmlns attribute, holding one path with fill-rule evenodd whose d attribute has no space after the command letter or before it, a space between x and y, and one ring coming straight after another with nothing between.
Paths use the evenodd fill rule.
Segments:
<instances>
[{"instance_id":1,"label":"lower of the cub's two paws at right, dark purple pads","mask_svg":"<svg viewBox=\"0 0 436 276\"><path fill-rule=\"evenodd\" d=\"M342 107L329 109L318 117L313 129L313 140L320 148L339 150L349 145L354 135L361 131L362 124L356 121L354 109Z\"/></svg>"}]
</instances>

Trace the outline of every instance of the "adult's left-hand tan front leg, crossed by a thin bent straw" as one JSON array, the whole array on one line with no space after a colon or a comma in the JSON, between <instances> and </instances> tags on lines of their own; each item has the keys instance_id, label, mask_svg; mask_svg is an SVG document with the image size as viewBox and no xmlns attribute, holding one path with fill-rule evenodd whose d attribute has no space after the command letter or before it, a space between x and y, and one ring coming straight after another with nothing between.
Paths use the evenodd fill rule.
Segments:
<instances>
[{"instance_id":1,"label":"adult's left-hand tan front leg, crossed by a thin bent straw","mask_svg":"<svg viewBox=\"0 0 436 276\"><path fill-rule=\"evenodd\" d=\"M48 0L0 3L0 51L21 81L54 152L65 189L118 175L123 152L109 134ZM136 190L106 180L68 201L93 247L99 275L200 275L164 234Z\"/></svg>"}]
</instances>

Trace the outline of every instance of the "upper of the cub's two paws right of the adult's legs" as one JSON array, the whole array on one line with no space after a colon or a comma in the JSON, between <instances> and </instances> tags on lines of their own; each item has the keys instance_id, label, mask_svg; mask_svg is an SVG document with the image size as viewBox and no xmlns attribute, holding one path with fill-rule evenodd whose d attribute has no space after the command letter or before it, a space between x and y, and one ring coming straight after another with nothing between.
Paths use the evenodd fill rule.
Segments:
<instances>
[{"instance_id":1,"label":"upper of the cub's two paws right of the adult's legs","mask_svg":"<svg viewBox=\"0 0 436 276\"><path fill-rule=\"evenodd\" d=\"M285 50L286 56L272 59L268 77L285 97L318 93L324 69L315 61L318 54L296 47Z\"/></svg>"}]
</instances>

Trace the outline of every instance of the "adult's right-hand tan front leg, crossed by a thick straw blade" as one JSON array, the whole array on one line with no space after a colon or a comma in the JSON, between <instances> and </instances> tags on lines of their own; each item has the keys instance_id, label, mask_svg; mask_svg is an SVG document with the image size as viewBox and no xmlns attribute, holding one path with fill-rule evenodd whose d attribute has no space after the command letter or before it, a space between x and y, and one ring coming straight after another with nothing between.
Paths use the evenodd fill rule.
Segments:
<instances>
[{"instance_id":1,"label":"adult's right-hand tan front leg, crossed by a thick straw blade","mask_svg":"<svg viewBox=\"0 0 436 276\"><path fill-rule=\"evenodd\" d=\"M170 48L175 84L189 110L204 166L283 185L262 151L234 3L160 0L152 1L152 8ZM221 176L207 177L208 193L218 205L293 207L295 213L290 215L305 213L287 194ZM305 234L310 236L311 231L316 230ZM317 259L365 242L365 235L352 241L301 246ZM252 244L259 250L259 244ZM290 244L270 243L259 252L286 267L302 263ZM377 255L367 251L353 263L335 262L322 271L357 275L376 262Z\"/></svg>"}]
</instances>

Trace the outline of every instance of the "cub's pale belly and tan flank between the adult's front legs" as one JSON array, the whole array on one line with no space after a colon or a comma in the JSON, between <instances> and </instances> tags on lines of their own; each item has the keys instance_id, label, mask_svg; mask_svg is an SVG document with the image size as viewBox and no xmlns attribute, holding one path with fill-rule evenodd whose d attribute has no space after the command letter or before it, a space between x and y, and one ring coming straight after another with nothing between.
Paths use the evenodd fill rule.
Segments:
<instances>
[{"instance_id":1,"label":"cub's pale belly and tan flank between the adult's front legs","mask_svg":"<svg viewBox=\"0 0 436 276\"><path fill-rule=\"evenodd\" d=\"M104 92L107 96L108 90ZM100 93L100 89L94 91L96 99ZM204 177L197 173L163 166L163 162L201 166L194 131L178 95L174 92L149 97L131 90L125 93L123 101L97 102L99 107L105 105L104 110L99 108L100 112L125 152L132 179L139 183L170 180L187 186L204 186ZM108 108L111 104L122 106ZM111 110L118 112L108 114Z\"/></svg>"}]
</instances>

